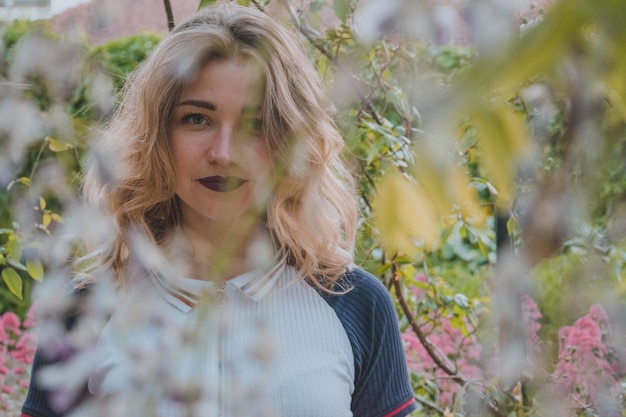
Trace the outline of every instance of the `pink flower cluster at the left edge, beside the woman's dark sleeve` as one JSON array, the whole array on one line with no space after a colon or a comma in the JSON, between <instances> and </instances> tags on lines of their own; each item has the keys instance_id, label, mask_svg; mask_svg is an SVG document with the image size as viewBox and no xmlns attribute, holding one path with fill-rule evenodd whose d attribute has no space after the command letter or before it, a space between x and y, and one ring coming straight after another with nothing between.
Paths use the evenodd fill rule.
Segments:
<instances>
[{"instance_id":1,"label":"pink flower cluster at the left edge, beside the woman's dark sleeve","mask_svg":"<svg viewBox=\"0 0 626 417\"><path fill-rule=\"evenodd\" d=\"M0 316L0 410L14 411L21 406L28 389L37 347L33 327L32 308L21 323L13 312Z\"/></svg>"}]
</instances>

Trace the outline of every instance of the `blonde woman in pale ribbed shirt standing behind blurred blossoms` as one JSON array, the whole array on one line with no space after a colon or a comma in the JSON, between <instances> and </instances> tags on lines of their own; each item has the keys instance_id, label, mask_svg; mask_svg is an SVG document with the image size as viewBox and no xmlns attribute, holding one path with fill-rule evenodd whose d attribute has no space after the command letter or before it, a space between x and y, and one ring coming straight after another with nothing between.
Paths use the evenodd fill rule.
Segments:
<instances>
[{"instance_id":1,"label":"blonde woman in pale ribbed shirt standing behind blurred blossoms","mask_svg":"<svg viewBox=\"0 0 626 417\"><path fill-rule=\"evenodd\" d=\"M112 213L116 235L79 285L111 271L122 294L87 381L101 410L415 408L389 294L352 266L353 181L331 103L295 39L262 12L216 5L130 77L97 146L119 163L93 158L83 190ZM23 412L56 416L40 366Z\"/></svg>"}]
</instances>

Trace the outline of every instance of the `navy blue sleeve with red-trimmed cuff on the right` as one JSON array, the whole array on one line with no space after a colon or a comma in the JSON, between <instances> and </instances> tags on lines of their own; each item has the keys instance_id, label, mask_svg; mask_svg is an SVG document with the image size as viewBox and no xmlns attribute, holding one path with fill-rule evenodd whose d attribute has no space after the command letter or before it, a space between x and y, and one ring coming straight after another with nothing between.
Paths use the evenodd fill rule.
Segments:
<instances>
[{"instance_id":1,"label":"navy blue sleeve with red-trimmed cuff on the right","mask_svg":"<svg viewBox=\"0 0 626 417\"><path fill-rule=\"evenodd\" d=\"M350 290L324 299L341 320L354 353L354 417L404 417L415 410L398 318L387 288L353 269L340 280Z\"/></svg>"}]
</instances>

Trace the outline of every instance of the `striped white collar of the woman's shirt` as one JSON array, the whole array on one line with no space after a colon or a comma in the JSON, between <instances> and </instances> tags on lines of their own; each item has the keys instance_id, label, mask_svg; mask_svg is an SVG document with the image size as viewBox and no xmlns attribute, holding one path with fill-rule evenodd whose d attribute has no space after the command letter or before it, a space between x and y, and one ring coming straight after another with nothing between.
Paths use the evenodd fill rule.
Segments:
<instances>
[{"instance_id":1,"label":"striped white collar of the woman's shirt","mask_svg":"<svg viewBox=\"0 0 626 417\"><path fill-rule=\"evenodd\" d=\"M269 267L266 265L255 268L232 278L226 281L225 288L232 286L258 302L271 291L280 275L284 273L286 265L287 259L277 255ZM185 277L168 279L160 272L154 272L151 277L160 295L183 313L193 310L203 293L218 290L211 281Z\"/></svg>"}]
</instances>

